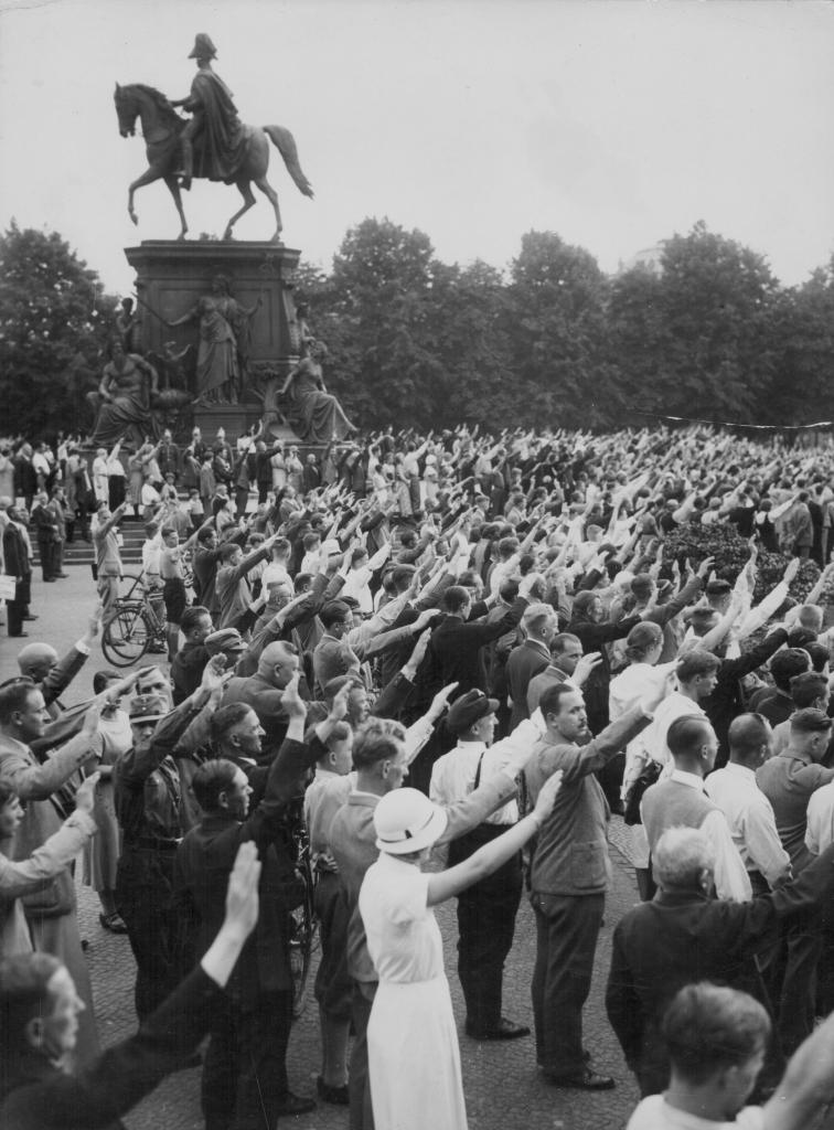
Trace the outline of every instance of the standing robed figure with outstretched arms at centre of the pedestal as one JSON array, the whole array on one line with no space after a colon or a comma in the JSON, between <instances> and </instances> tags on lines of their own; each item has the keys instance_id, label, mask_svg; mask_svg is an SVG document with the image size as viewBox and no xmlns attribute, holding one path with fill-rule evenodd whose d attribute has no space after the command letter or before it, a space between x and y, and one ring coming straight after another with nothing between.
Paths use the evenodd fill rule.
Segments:
<instances>
[{"instance_id":1,"label":"standing robed figure with outstretched arms at centre of the pedestal","mask_svg":"<svg viewBox=\"0 0 834 1130\"><path fill-rule=\"evenodd\" d=\"M249 362L250 321L262 302L261 295L247 310L232 297L225 275L217 275L210 294L202 295L182 318L166 322L171 329L186 322L199 324L196 403L237 403Z\"/></svg>"}]
</instances>

